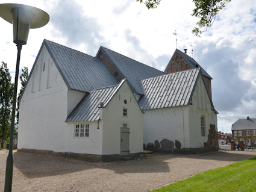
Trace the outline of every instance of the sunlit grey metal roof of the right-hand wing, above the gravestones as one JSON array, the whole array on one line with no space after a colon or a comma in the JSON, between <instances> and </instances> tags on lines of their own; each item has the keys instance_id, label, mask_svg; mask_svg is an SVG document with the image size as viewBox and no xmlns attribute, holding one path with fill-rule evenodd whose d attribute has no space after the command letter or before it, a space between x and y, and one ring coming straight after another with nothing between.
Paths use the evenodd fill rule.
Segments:
<instances>
[{"instance_id":1,"label":"sunlit grey metal roof of the right-hand wing, above the gravestones","mask_svg":"<svg viewBox=\"0 0 256 192\"><path fill-rule=\"evenodd\" d=\"M142 81L145 96L139 101L144 110L189 105L200 69L184 70Z\"/></svg>"}]
</instances>

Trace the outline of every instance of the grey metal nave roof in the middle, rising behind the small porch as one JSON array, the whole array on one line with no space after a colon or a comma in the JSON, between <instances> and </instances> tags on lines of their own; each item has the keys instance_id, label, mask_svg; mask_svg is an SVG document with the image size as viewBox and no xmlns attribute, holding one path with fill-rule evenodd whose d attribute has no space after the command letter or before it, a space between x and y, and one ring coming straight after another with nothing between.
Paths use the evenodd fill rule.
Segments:
<instances>
[{"instance_id":1,"label":"grey metal nave roof in the middle, rising behind the small porch","mask_svg":"<svg viewBox=\"0 0 256 192\"><path fill-rule=\"evenodd\" d=\"M125 57L124 55L118 54L117 52L111 51L110 49L102 46L99 48L99 51L102 51L108 60L110 60L122 78L127 79L128 85L134 93L144 94L141 83L142 79L166 74L160 70L135 61L129 57Z\"/></svg>"}]
</instances>

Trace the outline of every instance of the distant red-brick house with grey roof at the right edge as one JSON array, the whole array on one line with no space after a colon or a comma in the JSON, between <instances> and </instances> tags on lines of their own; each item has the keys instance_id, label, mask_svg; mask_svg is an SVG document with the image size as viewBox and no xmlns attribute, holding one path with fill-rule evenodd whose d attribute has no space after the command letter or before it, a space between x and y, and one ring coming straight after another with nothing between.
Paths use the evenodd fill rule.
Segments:
<instances>
[{"instance_id":1,"label":"distant red-brick house with grey roof at the right edge","mask_svg":"<svg viewBox=\"0 0 256 192\"><path fill-rule=\"evenodd\" d=\"M232 125L231 130L235 143L243 141L247 146L256 145L256 118L239 119Z\"/></svg>"}]
</instances>

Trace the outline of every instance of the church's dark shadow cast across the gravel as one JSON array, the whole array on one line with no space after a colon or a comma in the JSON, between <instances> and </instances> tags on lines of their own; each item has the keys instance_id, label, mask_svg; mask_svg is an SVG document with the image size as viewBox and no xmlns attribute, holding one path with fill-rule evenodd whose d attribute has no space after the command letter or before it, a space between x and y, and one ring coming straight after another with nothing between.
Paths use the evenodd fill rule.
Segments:
<instances>
[{"instance_id":1,"label":"church's dark shadow cast across the gravel","mask_svg":"<svg viewBox=\"0 0 256 192\"><path fill-rule=\"evenodd\" d=\"M232 152L219 151L198 155L171 155L154 153L140 158L138 161L117 161L111 163L90 163L76 159L57 158L55 156L37 155L33 153L16 152L14 153L14 166L27 178L42 178L55 175L65 175L75 172L97 172L93 169L111 170L117 174L124 173L168 173L179 167L187 166L187 169L195 166L195 159L204 163L219 161L243 161L253 158L256 152ZM198 161L196 160L196 161ZM179 164L179 162L182 162ZM185 169L186 170L186 169Z\"/></svg>"}]
</instances>

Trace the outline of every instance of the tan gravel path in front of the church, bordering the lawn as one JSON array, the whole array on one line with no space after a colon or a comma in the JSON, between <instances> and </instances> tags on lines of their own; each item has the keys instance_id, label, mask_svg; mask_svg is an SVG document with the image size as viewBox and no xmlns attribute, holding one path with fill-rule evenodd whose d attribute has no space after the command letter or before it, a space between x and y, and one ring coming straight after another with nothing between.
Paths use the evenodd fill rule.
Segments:
<instances>
[{"instance_id":1,"label":"tan gravel path in front of the church, bordering the lawn","mask_svg":"<svg viewBox=\"0 0 256 192\"><path fill-rule=\"evenodd\" d=\"M4 191L8 151L0 150L0 190ZM200 155L146 155L138 161L89 163L15 152L13 191L147 191L206 170L256 156L222 150Z\"/></svg>"}]
</instances>

